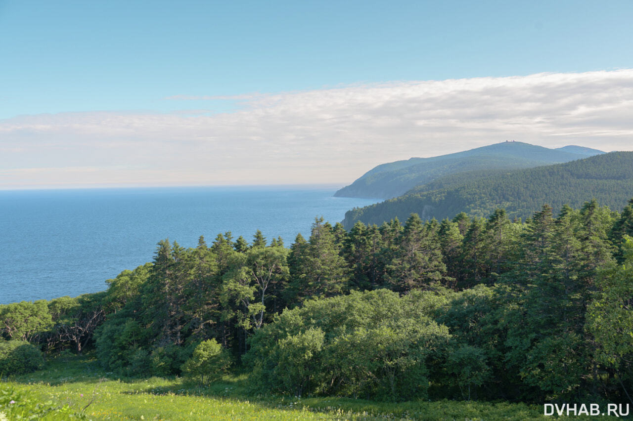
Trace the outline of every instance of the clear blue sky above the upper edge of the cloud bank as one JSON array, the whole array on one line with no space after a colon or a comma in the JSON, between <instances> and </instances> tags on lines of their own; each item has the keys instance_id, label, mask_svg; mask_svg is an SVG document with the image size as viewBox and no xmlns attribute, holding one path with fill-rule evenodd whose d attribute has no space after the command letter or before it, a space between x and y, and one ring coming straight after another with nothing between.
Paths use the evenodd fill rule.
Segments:
<instances>
[{"instance_id":1,"label":"clear blue sky above the upper edge of the cloud bank","mask_svg":"<svg viewBox=\"0 0 633 421\"><path fill-rule=\"evenodd\" d=\"M3 1L0 117L633 68L627 1ZM222 102L214 104L226 107Z\"/></svg>"}]
</instances>

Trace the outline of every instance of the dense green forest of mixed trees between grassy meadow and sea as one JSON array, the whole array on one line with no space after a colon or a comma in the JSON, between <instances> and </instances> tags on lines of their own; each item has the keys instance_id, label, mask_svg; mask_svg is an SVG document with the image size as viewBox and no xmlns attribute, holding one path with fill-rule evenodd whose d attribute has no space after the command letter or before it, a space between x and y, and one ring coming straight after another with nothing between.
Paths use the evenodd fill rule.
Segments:
<instances>
[{"instance_id":1,"label":"dense green forest of mixed trees between grassy meadow and sea","mask_svg":"<svg viewBox=\"0 0 633 421\"><path fill-rule=\"evenodd\" d=\"M633 403L631 236L633 199L162 240L106 291L0 306L0 372L71 352L282 396Z\"/></svg>"}]
</instances>

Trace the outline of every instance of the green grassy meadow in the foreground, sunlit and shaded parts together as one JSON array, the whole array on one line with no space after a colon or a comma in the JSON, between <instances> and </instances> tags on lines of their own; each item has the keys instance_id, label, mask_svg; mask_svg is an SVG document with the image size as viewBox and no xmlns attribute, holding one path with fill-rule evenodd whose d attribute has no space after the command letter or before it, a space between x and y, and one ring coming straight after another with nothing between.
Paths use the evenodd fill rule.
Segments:
<instances>
[{"instance_id":1,"label":"green grassy meadow in the foreground, sunlit and shaded parts together","mask_svg":"<svg viewBox=\"0 0 633 421\"><path fill-rule=\"evenodd\" d=\"M182 379L122 379L91 357L60 357L44 370L0 384L14 404L46 403L50 412L33 419L66 420L82 413L92 420L530 420L542 406L522 403L410 401L385 403L348 398L296 398L253 394L248 375L225 377L208 387ZM22 400L23 402L18 401ZM26 404L24 404L26 405ZM56 410L51 410L51 408ZM3 405L0 400L0 414ZM6 409L5 409L6 413ZM71 414L71 415L68 415ZM588 418L588 417L587 417ZM605 419L605 417L600 417ZM0 419L2 419L0 417ZM11 419L11 418L9 418Z\"/></svg>"}]
</instances>

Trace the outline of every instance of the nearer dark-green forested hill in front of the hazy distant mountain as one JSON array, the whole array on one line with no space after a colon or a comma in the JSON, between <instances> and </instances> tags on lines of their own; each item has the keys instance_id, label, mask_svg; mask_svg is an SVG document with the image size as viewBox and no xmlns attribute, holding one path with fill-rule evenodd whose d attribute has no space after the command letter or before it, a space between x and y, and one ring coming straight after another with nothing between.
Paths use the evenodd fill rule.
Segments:
<instances>
[{"instance_id":1,"label":"nearer dark-green forested hill in front of the hazy distant mountain","mask_svg":"<svg viewBox=\"0 0 633 421\"><path fill-rule=\"evenodd\" d=\"M555 211L597 198L622 209L633 196L633 152L610 152L579 161L530 169L468 171L413 188L406 195L349 210L344 226L356 221L381 224L411 213L423 219L454 217L459 212L484 217L503 207L511 218L525 219L542 204Z\"/></svg>"}]
</instances>

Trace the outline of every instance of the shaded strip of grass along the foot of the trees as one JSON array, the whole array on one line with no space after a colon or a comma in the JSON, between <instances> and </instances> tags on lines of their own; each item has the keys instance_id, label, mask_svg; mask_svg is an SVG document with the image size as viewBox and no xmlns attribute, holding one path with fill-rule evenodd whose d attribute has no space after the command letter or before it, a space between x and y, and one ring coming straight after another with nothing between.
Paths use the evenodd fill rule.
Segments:
<instances>
[{"instance_id":1,"label":"shaded strip of grass along the foot of the trees","mask_svg":"<svg viewBox=\"0 0 633 421\"><path fill-rule=\"evenodd\" d=\"M281 396L258 393L249 383L246 372L225 376L222 381L209 386L198 386L177 377L130 378L105 372L94 355L71 355L51 358L43 370L12 377L10 380L22 384L41 383L50 386L84 383L97 384L105 379L103 387L111 382L120 387L110 389L122 394L154 394L172 396L199 396L235 403L250 403L275 410L310 410L313 413L344 415L346 418L383 419L412 418L422 420L453 419L535 419L539 414L524 404L484 403L463 401L387 401L354 400L339 397ZM125 385L125 386L123 386ZM117 390L118 389L118 390Z\"/></svg>"}]
</instances>

